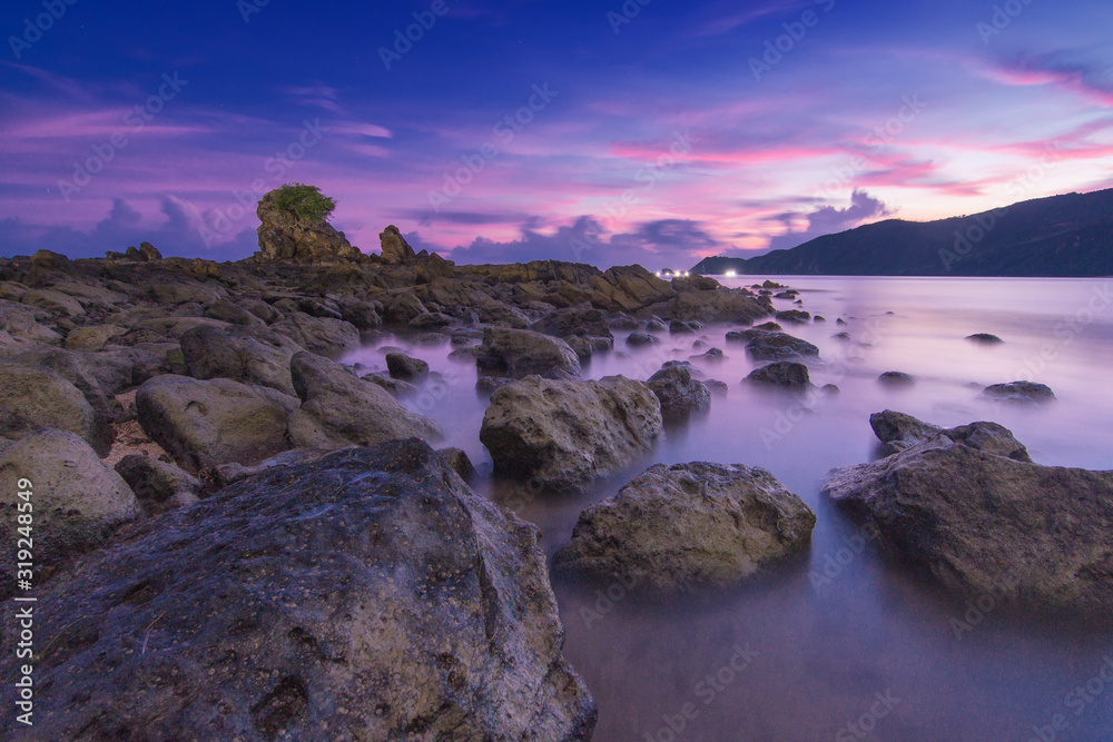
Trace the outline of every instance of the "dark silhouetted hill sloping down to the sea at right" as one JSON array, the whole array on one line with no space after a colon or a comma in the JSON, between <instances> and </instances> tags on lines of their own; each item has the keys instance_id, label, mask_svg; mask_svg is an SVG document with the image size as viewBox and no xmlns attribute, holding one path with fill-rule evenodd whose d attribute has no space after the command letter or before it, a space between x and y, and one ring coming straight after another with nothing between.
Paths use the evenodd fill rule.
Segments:
<instances>
[{"instance_id":1,"label":"dark silhouetted hill sloping down to the sea at right","mask_svg":"<svg viewBox=\"0 0 1113 742\"><path fill-rule=\"evenodd\" d=\"M937 221L887 219L692 273L833 276L1113 275L1113 188L1021 201Z\"/></svg>"}]
</instances>

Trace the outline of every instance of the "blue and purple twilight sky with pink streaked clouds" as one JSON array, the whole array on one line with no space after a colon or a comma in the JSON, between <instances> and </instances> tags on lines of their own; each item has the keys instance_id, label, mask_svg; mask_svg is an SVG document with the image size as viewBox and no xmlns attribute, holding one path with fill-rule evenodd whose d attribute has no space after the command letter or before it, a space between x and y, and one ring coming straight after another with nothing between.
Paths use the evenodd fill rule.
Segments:
<instances>
[{"instance_id":1,"label":"blue and purple twilight sky with pink streaked clouds","mask_svg":"<svg viewBox=\"0 0 1113 742\"><path fill-rule=\"evenodd\" d=\"M1109 0L9 0L0 256L688 267L1113 187Z\"/></svg>"}]
</instances>

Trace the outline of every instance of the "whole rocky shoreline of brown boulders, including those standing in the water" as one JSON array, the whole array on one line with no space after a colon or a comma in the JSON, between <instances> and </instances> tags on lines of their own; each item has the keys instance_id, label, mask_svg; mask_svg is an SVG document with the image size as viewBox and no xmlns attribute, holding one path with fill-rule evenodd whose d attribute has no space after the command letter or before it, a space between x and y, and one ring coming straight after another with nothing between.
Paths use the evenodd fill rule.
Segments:
<instances>
[{"instance_id":1,"label":"whole rocky shoreline of brown boulders, including those standing in the water","mask_svg":"<svg viewBox=\"0 0 1113 742\"><path fill-rule=\"evenodd\" d=\"M494 476L555 497L650 454L726 388L651 350L640 378L584 379L612 329L651 348L725 326L767 364L747 384L800 395L819 350L782 327L824 319L771 281L454 266L394 227L363 255L265 201L253 260L149 244L0 259L3 505L14 514L14 483L33 476L33 582L53 606L36 656L42 729L590 739L595 705L561 652L536 527L472 489L463 452L435 449L441 426L398 402L443 369L394 352L361 376L336 359L384 330L474 358ZM799 306L778 311L775 295ZM722 357L700 343L693 357ZM985 394L1054 398L1038 386ZM993 423L875 418L884 457L833 472L824 493L887 555L957 594L1113 610L1113 474L1034 464ZM553 570L652 595L722 590L806 555L815 524L764 469L659 464L584 509Z\"/></svg>"}]
</instances>

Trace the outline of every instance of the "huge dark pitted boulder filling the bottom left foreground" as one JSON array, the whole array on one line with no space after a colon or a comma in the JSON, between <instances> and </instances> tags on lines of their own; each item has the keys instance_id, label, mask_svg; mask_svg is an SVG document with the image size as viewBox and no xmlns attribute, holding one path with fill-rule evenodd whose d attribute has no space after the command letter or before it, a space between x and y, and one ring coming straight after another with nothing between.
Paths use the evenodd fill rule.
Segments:
<instances>
[{"instance_id":1,"label":"huge dark pitted boulder filling the bottom left foreground","mask_svg":"<svg viewBox=\"0 0 1113 742\"><path fill-rule=\"evenodd\" d=\"M239 482L39 598L37 739L571 742L594 726L538 530L417 441ZM6 677L17 662L4 653Z\"/></svg>"}]
</instances>

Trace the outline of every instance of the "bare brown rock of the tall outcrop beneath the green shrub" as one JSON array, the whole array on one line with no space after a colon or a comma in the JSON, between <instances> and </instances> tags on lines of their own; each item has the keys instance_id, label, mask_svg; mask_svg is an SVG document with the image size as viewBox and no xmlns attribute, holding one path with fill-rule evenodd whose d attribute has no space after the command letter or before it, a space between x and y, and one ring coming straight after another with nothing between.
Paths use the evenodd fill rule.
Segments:
<instances>
[{"instance_id":1,"label":"bare brown rock of the tall outcrop beneath the green shrub","mask_svg":"<svg viewBox=\"0 0 1113 742\"><path fill-rule=\"evenodd\" d=\"M277 190L277 189L276 189ZM264 263L318 263L339 258L358 258L344 233L336 231L324 219L302 219L275 204L275 190L259 199L255 212L259 217L256 234L259 239L257 259Z\"/></svg>"}]
</instances>

